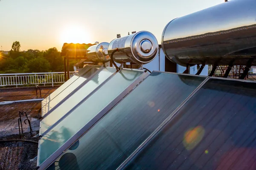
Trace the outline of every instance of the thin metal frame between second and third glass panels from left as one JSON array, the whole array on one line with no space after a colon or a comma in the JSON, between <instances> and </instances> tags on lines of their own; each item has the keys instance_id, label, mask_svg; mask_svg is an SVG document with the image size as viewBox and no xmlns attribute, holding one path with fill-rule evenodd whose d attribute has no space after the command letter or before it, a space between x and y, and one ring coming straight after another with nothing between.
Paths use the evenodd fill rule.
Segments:
<instances>
[{"instance_id":1,"label":"thin metal frame between second and third glass panels from left","mask_svg":"<svg viewBox=\"0 0 256 170\"><path fill-rule=\"evenodd\" d=\"M97 71L96 71L97 72ZM81 105L85 100L87 100L91 95L93 95L97 90L99 90L99 88L101 88L103 85L105 85L106 82L108 82L108 80L110 80L116 73L118 73L119 71L114 72L113 74L111 74L110 77L108 77L107 79L105 79L105 81L103 81L97 88L95 88L92 92L90 92L90 94L88 94L87 96L84 97L84 99L82 99L78 104L76 104L70 111L68 111L64 116L62 116L60 119L58 119L57 122L55 122L52 126L50 126L44 133L42 133L39 137L41 139L42 136L44 136L46 133L48 133L53 127L55 127L56 125L58 125L59 122L61 122L63 119L65 119L65 117L67 117L71 112L73 112L79 105ZM98 73L97 73L98 74ZM96 74L93 76L95 77ZM93 77L91 79L93 79ZM55 109L54 109L55 110ZM40 122L40 131L41 131L41 122ZM40 133L39 133L40 134Z\"/></svg>"}]
</instances>

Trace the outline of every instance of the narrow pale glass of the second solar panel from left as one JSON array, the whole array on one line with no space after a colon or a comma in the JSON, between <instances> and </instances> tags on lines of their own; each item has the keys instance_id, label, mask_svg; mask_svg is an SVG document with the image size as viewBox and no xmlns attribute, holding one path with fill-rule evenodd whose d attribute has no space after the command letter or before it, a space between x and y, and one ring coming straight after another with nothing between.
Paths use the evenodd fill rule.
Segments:
<instances>
[{"instance_id":1,"label":"narrow pale glass of the second solar panel from left","mask_svg":"<svg viewBox=\"0 0 256 170\"><path fill-rule=\"evenodd\" d=\"M93 77L83 87L76 91L75 94L70 96L65 102L59 105L58 108L52 111L52 113L50 113L47 117L42 119L40 124L40 134L44 133L49 127L51 127L55 122L57 122L68 111L74 108L79 102L81 102L82 99L89 95L100 84L102 84L102 82L108 79L108 77L110 77L115 72L115 68L104 68L102 71L96 74L95 77Z\"/></svg>"}]
</instances>

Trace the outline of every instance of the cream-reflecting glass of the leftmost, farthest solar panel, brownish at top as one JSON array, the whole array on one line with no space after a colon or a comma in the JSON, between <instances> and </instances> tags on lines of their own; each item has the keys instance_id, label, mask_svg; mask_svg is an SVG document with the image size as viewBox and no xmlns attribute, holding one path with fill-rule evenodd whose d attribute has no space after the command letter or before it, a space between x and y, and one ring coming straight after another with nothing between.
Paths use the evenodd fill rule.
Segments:
<instances>
[{"instance_id":1,"label":"cream-reflecting glass of the leftmost, farthest solar panel, brownish at top","mask_svg":"<svg viewBox=\"0 0 256 170\"><path fill-rule=\"evenodd\" d=\"M86 69L85 69L86 68ZM84 70L85 69L85 70ZM42 116L58 104L62 99L74 91L81 83L99 69L98 66L86 66L79 74L71 77L61 87L57 88L52 94L42 101Z\"/></svg>"}]
</instances>

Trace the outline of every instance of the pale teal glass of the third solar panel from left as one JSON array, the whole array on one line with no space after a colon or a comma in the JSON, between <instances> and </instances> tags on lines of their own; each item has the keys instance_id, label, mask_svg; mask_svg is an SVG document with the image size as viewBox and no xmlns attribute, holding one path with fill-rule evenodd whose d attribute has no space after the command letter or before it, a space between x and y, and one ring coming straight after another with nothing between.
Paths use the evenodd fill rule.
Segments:
<instances>
[{"instance_id":1,"label":"pale teal glass of the third solar panel from left","mask_svg":"<svg viewBox=\"0 0 256 170\"><path fill-rule=\"evenodd\" d=\"M65 119L58 125L52 128L52 130L40 139L38 154L39 164L51 156L52 153L54 153L62 144L67 142L71 136L76 134L143 73L144 71L138 70L132 71L124 69L119 71L92 96L65 117ZM82 93L80 93L80 95L81 94ZM79 146L80 145L81 144L79 144Z\"/></svg>"}]
</instances>

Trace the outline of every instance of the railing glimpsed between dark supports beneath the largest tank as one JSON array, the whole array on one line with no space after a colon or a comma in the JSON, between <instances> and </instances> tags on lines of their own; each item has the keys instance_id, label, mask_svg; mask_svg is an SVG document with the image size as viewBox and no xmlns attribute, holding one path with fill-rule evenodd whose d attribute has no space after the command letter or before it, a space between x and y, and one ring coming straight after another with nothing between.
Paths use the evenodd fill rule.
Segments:
<instances>
[{"instance_id":1,"label":"railing glimpsed between dark supports beneath the largest tank","mask_svg":"<svg viewBox=\"0 0 256 170\"><path fill-rule=\"evenodd\" d=\"M227 66L218 66L218 68L215 71L215 75L216 76L220 76L225 74L225 71L227 69ZM243 69L241 69L240 66L233 66L232 70L230 71L230 74L232 73L239 73L239 69L240 69L240 74L243 73ZM208 74L210 74L212 71L212 66L208 67ZM256 74L256 66L251 66L249 74Z\"/></svg>"}]
</instances>

